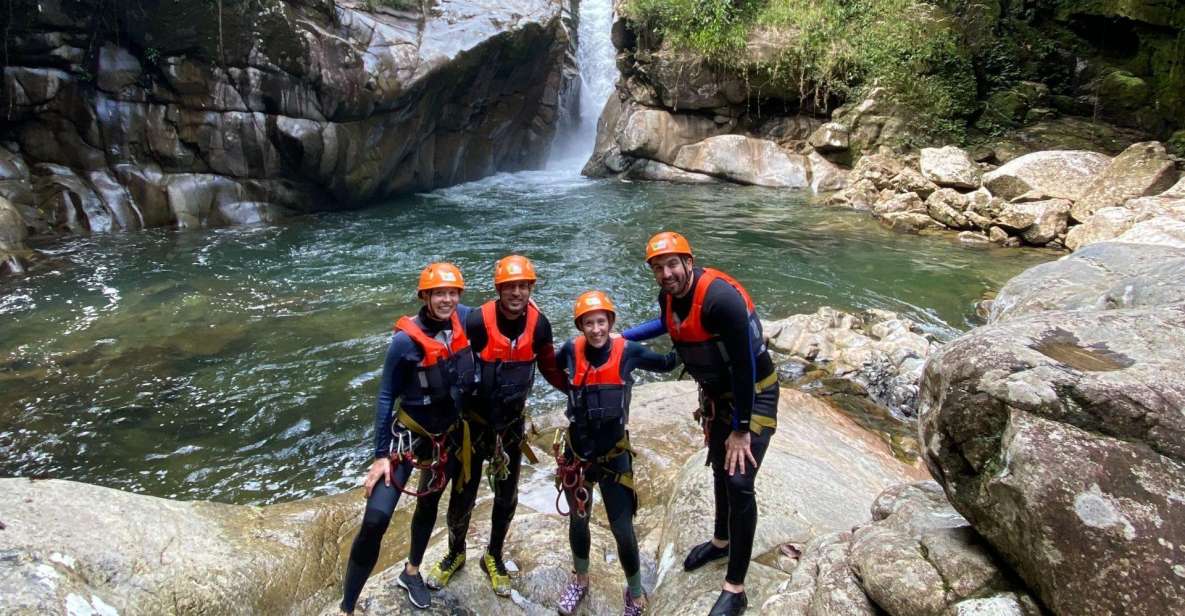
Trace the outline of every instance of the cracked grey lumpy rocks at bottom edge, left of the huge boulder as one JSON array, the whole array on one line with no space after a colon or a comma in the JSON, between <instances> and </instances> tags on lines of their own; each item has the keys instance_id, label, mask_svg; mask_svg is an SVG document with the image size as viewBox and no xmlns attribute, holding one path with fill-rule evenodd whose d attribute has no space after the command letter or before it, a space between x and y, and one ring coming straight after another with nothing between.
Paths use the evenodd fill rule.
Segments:
<instances>
[{"instance_id":1,"label":"cracked grey lumpy rocks at bottom edge, left of the huge boulder","mask_svg":"<svg viewBox=\"0 0 1185 616\"><path fill-rule=\"evenodd\" d=\"M762 612L1042 614L933 481L893 486L872 503L871 521L808 543Z\"/></svg>"}]
</instances>

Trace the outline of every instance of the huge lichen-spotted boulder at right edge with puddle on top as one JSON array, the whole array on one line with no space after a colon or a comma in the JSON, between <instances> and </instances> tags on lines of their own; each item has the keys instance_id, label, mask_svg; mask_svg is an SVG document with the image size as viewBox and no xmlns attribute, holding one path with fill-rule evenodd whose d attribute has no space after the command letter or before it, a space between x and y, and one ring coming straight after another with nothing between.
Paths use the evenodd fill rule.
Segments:
<instances>
[{"instance_id":1,"label":"huge lichen-spotted boulder at right edge with puddle on top","mask_svg":"<svg viewBox=\"0 0 1185 616\"><path fill-rule=\"evenodd\" d=\"M935 479L1056 614L1185 602L1183 345L1185 303L1051 310L979 328L927 364L920 431Z\"/></svg>"}]
</instances>

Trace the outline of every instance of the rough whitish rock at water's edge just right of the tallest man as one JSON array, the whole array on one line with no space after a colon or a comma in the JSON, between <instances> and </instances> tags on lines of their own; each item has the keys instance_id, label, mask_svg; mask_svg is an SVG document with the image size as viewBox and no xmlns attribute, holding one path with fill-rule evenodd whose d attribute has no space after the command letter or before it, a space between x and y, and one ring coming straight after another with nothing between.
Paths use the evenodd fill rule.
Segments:
<instances>
[{"instance_id":1,"label":"rough whitish rock at water's edge just right of the tallest man","mask_svg":"<svg viewBox=\"0 0 1185 616\"><path fill-rule=\"evenodd\" d=\"M763 323L774 351L801 360L830 378L851 381L899 417L917 411L922 366L939 345L901 315L869 309L850 314L822 307Z\"/></svg>"}]
</instances>

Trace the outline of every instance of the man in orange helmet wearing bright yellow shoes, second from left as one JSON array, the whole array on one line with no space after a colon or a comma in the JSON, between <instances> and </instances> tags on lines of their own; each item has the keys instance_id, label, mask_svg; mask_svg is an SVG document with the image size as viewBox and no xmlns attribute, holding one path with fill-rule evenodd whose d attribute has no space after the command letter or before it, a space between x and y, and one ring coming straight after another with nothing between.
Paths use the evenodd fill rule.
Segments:
<instances>
[{"instance_id":1,"label":"man in orange helmet wearing bright yellow shoes, second from left","mask_svg":"<svg viewBox=\"0 0 1185 616\"><path fill-rule=\"evenodd\" d=\"M536 366L556 389L566 387L556 365L551 322L531 301L538 281L534 265L521 255L494 264L498 297L469 312L466 334L476 361L473 391L465 397L465 416L473 429L470 476L486 476L494 493L489 543L480 565L495 595L510 596L511 578L502 562L502 544L518 507L518 480L523 455L533 456L525 443L526 399ZM469 518L480 482L467 483L448 505L448 546L428 573L429 588L440 589L465 565Z\"/></svg>"}]
</instances>

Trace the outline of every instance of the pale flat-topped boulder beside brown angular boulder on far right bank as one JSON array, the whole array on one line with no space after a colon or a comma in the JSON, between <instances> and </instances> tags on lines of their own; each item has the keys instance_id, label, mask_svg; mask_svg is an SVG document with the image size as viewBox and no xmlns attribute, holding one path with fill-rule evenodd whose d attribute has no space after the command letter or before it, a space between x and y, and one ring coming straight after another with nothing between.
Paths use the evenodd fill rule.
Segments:
<instances>
[{"instance_id":1,"label":"pale flat-topped boulder beside brown angular boulder on far right bank","mask_svg":"<svg viewBox=\"0 0 1185 616\"><path fill-rule=\"evenodd\" d=\"M1006 200L1030 191L1058 199L1077 200L1110 163L1096 152L1035 152L1010 160L984 175L984 186Z\"/></svg>"}]
</instances>

